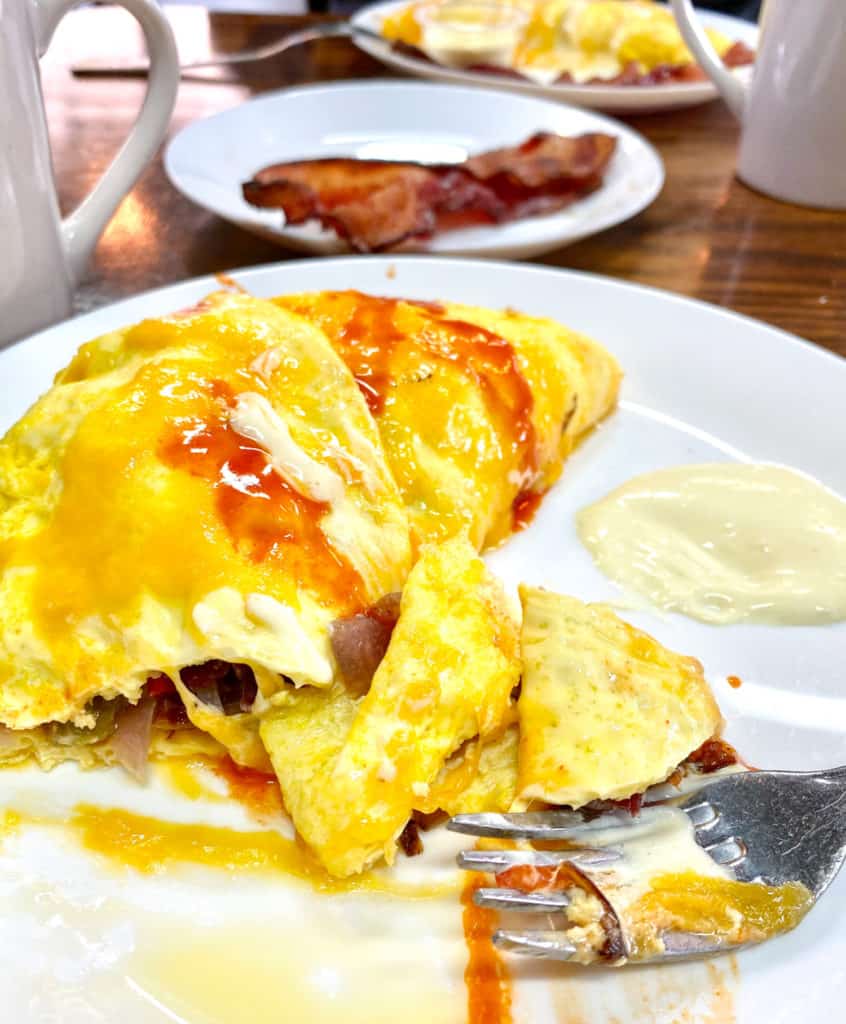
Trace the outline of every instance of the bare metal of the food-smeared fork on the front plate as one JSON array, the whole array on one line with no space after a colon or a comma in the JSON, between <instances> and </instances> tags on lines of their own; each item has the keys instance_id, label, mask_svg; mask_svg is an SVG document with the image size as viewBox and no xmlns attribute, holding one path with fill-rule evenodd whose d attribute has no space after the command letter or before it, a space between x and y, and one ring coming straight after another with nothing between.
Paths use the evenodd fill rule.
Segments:
<instances>
[{"instance_id":1,"label":"bare metal of the food-smeared fork on the front plate","mask_svg":"<svg viewBox=\"0 0 846 1024\"><path fill-rule=\"evenodd\" d=\"M644 804L647 808L666 806L666 786L647 791ZM819 772L738 772L706 782L672 803L687 815L699 845L741 882L771 886L801 882L816 902L846 859L846 767ZM649 817L648 810L645 817ZM603 872L622 863L626 844L637 829L642 838L649 824L623 811L592 818L579 811L541 811L460 814L447 827L467 836L569 845L559 850L468 850L458 858L467 870L496 874L518 864L567 863L597 885ZM606 835L612 841L598 846L592 837L605 828L610 829ZM560 913L568 903L564 892L502 888L478 889L474 900L498 910L536 914ZM619 918L617 924L624 947L618 963L625 963L631 947ZM500 930L494 942L514 952L558 961L582 955L561 930ZM699 959L741 948L738 943L688 933L667 934L664 945L663 952L639 956L636 962Z\"/></svg>"}]
</instances>

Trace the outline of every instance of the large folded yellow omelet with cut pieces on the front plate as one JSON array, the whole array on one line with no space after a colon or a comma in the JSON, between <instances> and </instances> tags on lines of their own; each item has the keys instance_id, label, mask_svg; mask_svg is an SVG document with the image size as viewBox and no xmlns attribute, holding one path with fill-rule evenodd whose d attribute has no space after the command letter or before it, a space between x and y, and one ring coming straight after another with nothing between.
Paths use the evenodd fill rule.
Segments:
<instances>
[{"instance_id":1,"label":"large folded yellow omelet with cut pieces on the front plate","mask_svg":"<svg viewBox=\"0 0 846 1024\"><path fill-rule=\"evenodd\" d=\"M153 723L272 767L338 876L418 812L666 779L720 724L699 663L527 587L520 636L476 554L619 385L552 322L355 292L84 345L0 441L0 763L137 768Z\"/></svg>"}]
</instances>

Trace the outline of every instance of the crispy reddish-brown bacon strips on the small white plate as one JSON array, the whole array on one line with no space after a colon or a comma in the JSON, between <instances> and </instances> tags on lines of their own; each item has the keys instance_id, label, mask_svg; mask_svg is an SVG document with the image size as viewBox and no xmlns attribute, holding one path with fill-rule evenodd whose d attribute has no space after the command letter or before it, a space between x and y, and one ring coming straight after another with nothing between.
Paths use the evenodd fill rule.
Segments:
<instances>
[{"instance_id":1,"label":"crispy reddish-brown bacon strips on the small white plate","mask_svg":"<svg viewBox=\"0 0 846 1024\"><path fill-rule=\"evenodd\" d=\"M357 252L379 252L468 224L550 213L602 181L617 140L539 132L463 164L346 158L274 164L244 186L253 206L318 220Z\"/></svg>"}]
</instances>

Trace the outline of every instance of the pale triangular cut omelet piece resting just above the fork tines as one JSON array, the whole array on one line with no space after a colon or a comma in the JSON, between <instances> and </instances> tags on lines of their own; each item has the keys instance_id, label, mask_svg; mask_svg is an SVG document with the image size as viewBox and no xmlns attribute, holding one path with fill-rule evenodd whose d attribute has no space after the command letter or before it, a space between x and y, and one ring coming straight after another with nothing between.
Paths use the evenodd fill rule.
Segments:
<instances>
[{"instance_id":1,"label":"pale triangular cut omelet piece resting just above the fork tines","mask_svg":"<svg viewBox=\"0 0 846 1024\"><path fill-rule=\"evenodd\" d=\"M695 658L610 608L520 588L517 799L581 807L666 779L720 724Z\"/></svg>"}]
</instances>

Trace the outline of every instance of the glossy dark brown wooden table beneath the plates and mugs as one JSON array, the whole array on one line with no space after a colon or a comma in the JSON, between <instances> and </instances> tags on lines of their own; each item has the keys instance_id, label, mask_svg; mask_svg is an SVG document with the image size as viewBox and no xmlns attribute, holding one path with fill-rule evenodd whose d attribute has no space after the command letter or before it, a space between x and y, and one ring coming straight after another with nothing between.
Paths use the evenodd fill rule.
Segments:
<instances>
[{"instance_id":1,"label":"glossy dark brown wooden table beneath the plates and mugs","mask_svg":"<svg viewBox=\"0 0 846 1024\"><path fill-rule=\"evenodd\" d=\"M266 42L302 18L172 13L183 59ZM44 91L64 208L78 203L126 135L144 85L75 79L73 58L140 52L127 15L83 10L66 18L44 63ZM248 96L306 82L373 78L384 69L346 40L284 58L214 71L181 85L171 133ZM721 102L626 118L661 152L667 184L639 216L541 262L610 274L735 309L846 355L846 214L807 210L757 195L733 176L737 126ZM269 157L270 155L268 155ZM105 231L78 294L78 308L185 278L292 258L194 206L170 185L161 154Z\"/></svg>"}]
</instances>

